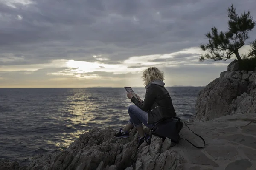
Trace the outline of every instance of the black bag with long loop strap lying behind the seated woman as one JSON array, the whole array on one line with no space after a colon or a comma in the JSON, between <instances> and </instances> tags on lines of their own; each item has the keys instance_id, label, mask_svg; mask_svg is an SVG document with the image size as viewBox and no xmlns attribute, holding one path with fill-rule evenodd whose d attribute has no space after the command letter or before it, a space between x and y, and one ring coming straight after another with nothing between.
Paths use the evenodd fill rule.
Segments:
<instances>
[{"instance_id":1,"label":"black bag with long loop strap lying behind the seated woman","mask_svg":"<svg viewBox=\"0 0 256 170\"><path fill-rule=\"evenodd\" d=\"M178 117L173 117L173 118L163 119L163 120L158 121L150 130L150 139L148 141L148 144L151 143L152 135L162 138L163 141L166 138L171 139L172 142L175 142L175 144L172 145L172 146L175 146L176 144L178 144L181 139L184 139L184 138L180 138L180 130L183 127L183 123L181 121L184 122L183 120L181 120ZM185 123L185 125L186 125L186 123ZM186 125L186 127L188 127L188 126ZM192 130L190 130L190 131L192 131ZM199 136L196 133L194 133L194 134L196 136ZM205 146L204 139L201 136L199 136L199 137L203 140L204 146ZM184 139L184 140L186 140L190 144L192 144L189 140L187 140L187 139ZM194 144L192 144L192 145L196 148L203 148L204 147L204 146L203 147L197 147Z\"/></svg>"}]
</instances>

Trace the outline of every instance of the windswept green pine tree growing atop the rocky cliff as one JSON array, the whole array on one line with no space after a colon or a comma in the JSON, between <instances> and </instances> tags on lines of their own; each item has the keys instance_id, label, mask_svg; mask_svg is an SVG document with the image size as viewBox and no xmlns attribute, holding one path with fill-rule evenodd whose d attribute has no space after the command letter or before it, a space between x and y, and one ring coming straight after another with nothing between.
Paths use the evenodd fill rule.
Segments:
<instances>
[{"instance_id":1,"label":"windswept green pine tree growing atop the rocky cliff","mask_svg":"<svg viewBox=\"0 0 256 170\"><path fill-rule=\"evenodd\" d=\"M249 38L248 32L254 28L255 21L253 21L253 17L250 16L250 11L244 11L241 16L236 14L236 8L234 8L233 4L227 11L228 17L230 18L228 21L228 31L218 32L218 29L213 26L211 32L205 34L209 42L201 44L200 48L203 51L208 51L208 53L200 56L199 61L203 62L206 59L226 61L235 54L237 60L242 62L239 48L245 45L245 40Z\"/></svg>"}]
</instances>

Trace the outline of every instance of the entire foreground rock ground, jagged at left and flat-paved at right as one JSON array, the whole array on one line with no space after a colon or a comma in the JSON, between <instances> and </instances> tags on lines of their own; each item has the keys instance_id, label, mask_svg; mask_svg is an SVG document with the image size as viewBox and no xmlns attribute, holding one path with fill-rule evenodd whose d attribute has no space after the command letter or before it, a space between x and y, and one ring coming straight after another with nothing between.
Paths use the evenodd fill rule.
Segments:
<instances>
[{"instance_id":1,"label":"entire foreground rock ground, jagged at left and flat-paved at right","mask_svg":"<svg viewBox=\"0 0 256 170\"><path fill-rule=\"evenodd\" d=\"M235 114L193 122L189 127L206 141L196 149L185 140L153 136L150 146L137 149L137 133L115 139L112 129L97 128L82 134L61 152L35 156L28 167L0 159L0 170L255 170L256 113ZM148 129L145 129L148 131ZM181 136L202 146L201 139L184 126Z\"/></svg>"}]
</instances>

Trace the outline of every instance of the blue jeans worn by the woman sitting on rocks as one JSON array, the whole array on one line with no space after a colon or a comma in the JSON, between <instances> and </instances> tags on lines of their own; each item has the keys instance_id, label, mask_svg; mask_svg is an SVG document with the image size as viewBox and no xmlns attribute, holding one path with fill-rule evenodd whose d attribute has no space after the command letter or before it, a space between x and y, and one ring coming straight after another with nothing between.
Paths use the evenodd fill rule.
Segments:
<instances>
[{"instance_id":1,"label":"blue jeans worn by the woman sitting on rocks","mask_svg":"<svg viewBox=\"0 0 256 170\"><path fill-rule=\"evenodd\" d=\"M154 124L148 125L148 112L141 110L136 105L130 105L128 107L128 113L130 120L128 123L133 124L135 127L141 127L144 124L148 128L152 128Z\"/></svg>"}]
</instances>

